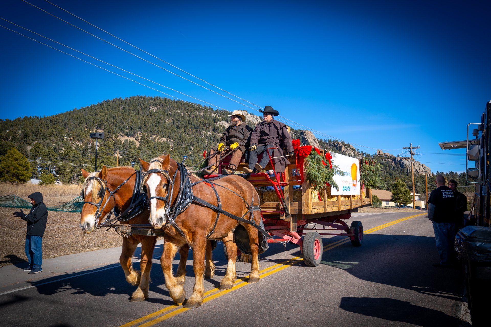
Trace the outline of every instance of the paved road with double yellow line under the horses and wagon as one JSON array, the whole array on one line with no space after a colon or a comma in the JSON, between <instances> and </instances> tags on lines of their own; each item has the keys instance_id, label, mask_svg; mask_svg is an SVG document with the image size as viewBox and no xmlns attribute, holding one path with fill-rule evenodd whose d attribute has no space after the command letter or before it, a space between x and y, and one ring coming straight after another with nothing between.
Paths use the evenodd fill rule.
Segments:
<instances>
[{"instance_id":1,"label":"paved road with double yellow line under the horses and wagon","mask_svg":"<svg viewBox=\"0 0 491 327\"><path fill-rule=\"evenodd\" d=\"M298 247L287 245L284 251L283 245L272 245L260 262L261 280L238 280L231 291L215 288L226 268L219 244L218 276L205 281L207 298L191 310L170 300L159 260L148 301L129 302L135 288L120 268L112 268L118 266L118 248L46 260L45 271L28 282L20 269L4 267L2 326L466 326L460 319L460 272L433 267L438 261L433 229L422 213L409 219L404 218L413 213L355 213L352 220L367 232L363 245L324 238L319 267L304 266ZM159 244L155 257L161 250ZM238 277L249 269L238 263ZM66 273L57 275L61 270ZM188 295L192 275L188 261Z\"/></svg>"}]
</instances>

